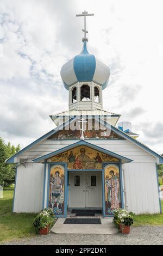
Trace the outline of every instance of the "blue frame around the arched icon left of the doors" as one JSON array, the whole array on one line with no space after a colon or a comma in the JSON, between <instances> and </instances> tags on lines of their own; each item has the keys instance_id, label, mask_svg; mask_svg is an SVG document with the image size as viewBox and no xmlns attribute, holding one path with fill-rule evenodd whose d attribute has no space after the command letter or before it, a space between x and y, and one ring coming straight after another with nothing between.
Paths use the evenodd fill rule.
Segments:
<instances>
[{"instance_id":1,"label":"blue frame around the arched icon left of the doors","mask_svg":"<svg viewBox=\"0 0 163 256\"><path fill-rule=\"evenodd\" d=\"M50 182L50 174L51 174L51 167L54 165L61 165L65 168L65 188L64 188L64 214L62 215L55 215L55 217L66 217L67 216L67 164L63 162L55 162L55 163L48 163L48 184L47 184L47 202L46 207L48 208L49 203L49 182Z\"/></svg>"}]
</instances>

